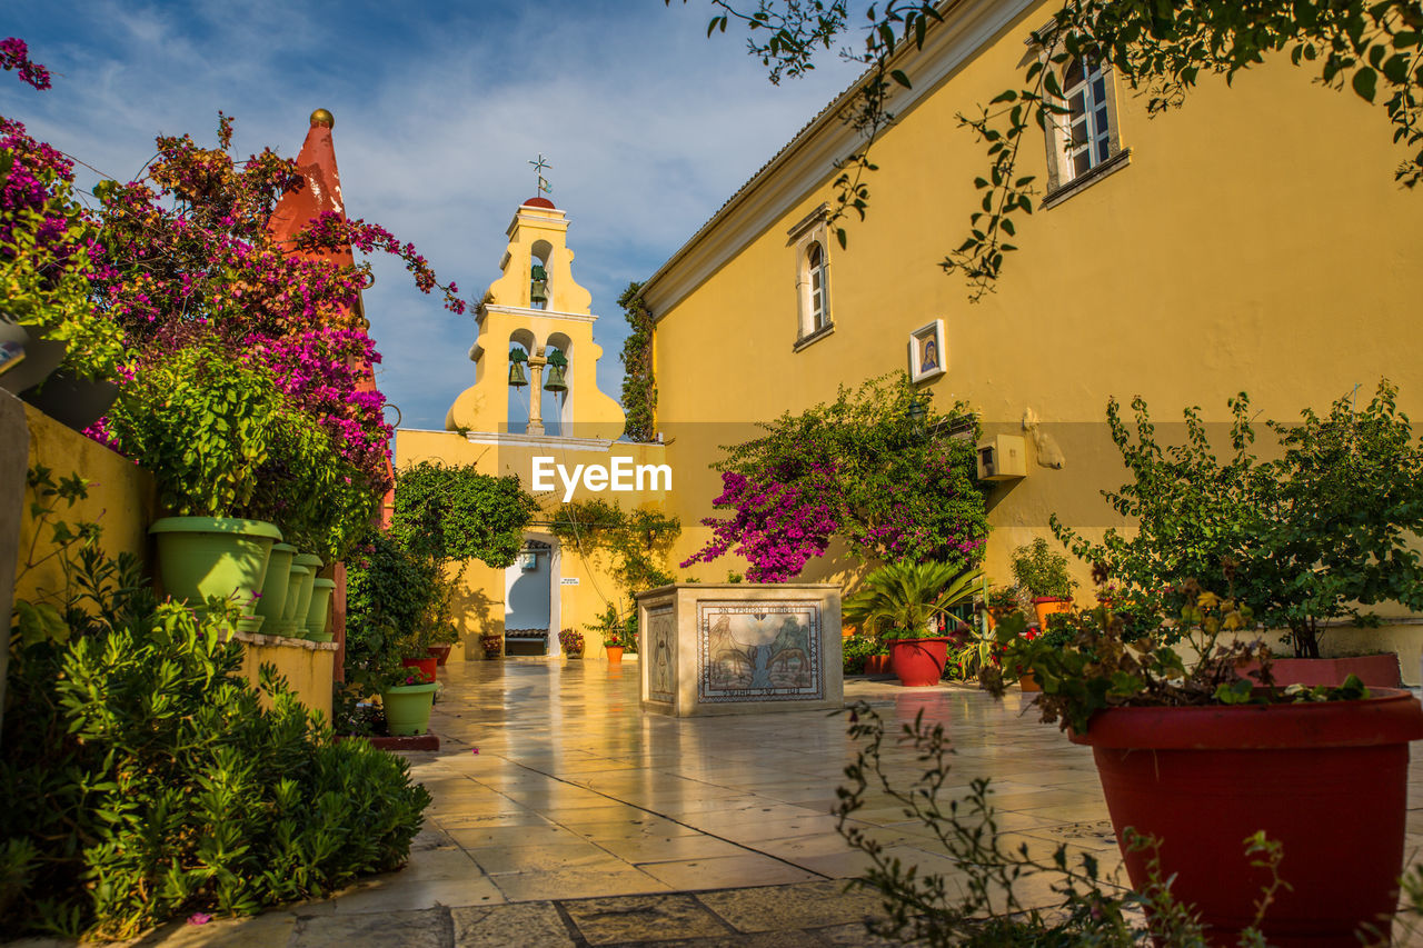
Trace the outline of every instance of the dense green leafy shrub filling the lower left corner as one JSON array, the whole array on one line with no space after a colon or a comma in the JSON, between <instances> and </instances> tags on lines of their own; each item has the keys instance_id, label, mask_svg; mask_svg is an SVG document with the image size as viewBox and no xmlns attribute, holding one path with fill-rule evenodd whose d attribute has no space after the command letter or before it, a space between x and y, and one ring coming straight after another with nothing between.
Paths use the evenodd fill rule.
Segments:
<instances>
[{"instance_id":1,"label":"dense green leafy shrub filling the lower left corner","mask_svg":"<svg viewBox=\"0 0 1423 948\"><path fill-rule=\"evenodd\" d=\"M13 653L0 928L129 938L406 861L430 803L408 763L333 743L270 668L248 685L229 616L155 605L132 559L78 558L71 633Z\"/></svg>"}]
</instances>

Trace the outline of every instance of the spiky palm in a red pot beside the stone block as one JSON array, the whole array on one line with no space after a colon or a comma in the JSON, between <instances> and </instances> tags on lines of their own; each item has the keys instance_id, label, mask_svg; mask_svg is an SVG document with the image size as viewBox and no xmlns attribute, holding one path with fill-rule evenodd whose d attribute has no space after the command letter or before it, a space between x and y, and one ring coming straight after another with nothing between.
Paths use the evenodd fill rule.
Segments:
<instances>
[{"instance_id":1,"label":"spiky palm in a red pot beside the stone block","mask_svg":"<svg viewBox=\"0 0 1423 948\"><path fill-rule=\"evenodd\" d=\"M948 663L949 636L939 619L973 596L978 569L946 562L896 562L865 576L845 599L844 616L889 645L889 665L906 688L936 685Z\"/></svg>"}]
</instances>

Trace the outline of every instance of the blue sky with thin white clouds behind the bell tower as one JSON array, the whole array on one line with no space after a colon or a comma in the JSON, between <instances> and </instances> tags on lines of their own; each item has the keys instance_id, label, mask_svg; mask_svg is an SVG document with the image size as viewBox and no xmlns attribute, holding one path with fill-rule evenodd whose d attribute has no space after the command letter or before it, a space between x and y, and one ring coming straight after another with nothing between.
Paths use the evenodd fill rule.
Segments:
<instances>
[{"instance_id":1,"label":"blue sky with thin white clouds behind the bell tower","mask_svg":"<svg viewBox=\"0 0 1423 948\"><path fill-rule=\"evenodd\" d=\"M615 397L622 289L855 75L828 57L773 87L741 37L706 37L706 0L7 0L4 14L0 34L26 40L54 88L6 77L0 112L104 177L132 178L158 134L215 144L218 110L238 120L239 155L295 155L312 110L332 110L347 212L413 241L467 299L498 276L542 152ZM421 296L398 263L373 263L380 386L404 427L443 427L474 380L474 319Z\"/></svg>"}]
</instances>

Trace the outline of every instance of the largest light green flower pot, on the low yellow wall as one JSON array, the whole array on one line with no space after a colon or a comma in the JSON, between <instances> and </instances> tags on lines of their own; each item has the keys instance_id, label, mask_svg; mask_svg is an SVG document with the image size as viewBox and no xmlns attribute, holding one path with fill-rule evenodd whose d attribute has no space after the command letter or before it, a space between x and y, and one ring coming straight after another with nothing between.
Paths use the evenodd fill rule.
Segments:
<instances>
[{"instance_id":1,"label":"largest light green flower pot, on the low yellow wall","mask_svg":"<svg viewBox=\"0 0 1423 948\"><path fill-rule=\"evenodd\" d=\"M235 598L242 615L255 613L280 530L259 520L164 517L148 532L158 538L158 572L169 596L191 606L209 596Z\"/></svg>"}]
</instances>

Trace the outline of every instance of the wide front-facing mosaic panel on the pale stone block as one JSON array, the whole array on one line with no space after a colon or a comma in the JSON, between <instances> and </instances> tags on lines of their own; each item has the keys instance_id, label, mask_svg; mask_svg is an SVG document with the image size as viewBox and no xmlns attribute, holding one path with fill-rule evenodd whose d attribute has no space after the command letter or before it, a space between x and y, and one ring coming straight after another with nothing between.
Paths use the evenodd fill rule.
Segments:
<instances>
[{"instance_id":1,"label":"wide front-facing mosaic panel on the pale stone block","mask_svg":"<svg viewBox=\"0 0 1423 948\"><path fill-rule=\"evenodd\" d=\"M818 604L697 604L699 702L820 700L821 665Z\"/></svg>"}]
</instances>

